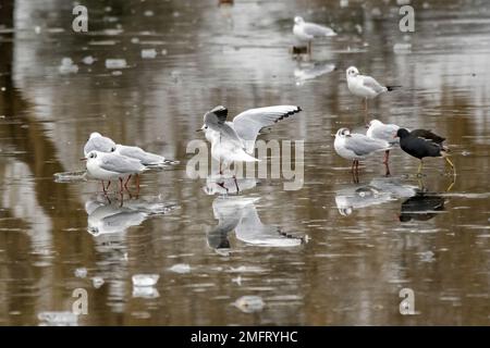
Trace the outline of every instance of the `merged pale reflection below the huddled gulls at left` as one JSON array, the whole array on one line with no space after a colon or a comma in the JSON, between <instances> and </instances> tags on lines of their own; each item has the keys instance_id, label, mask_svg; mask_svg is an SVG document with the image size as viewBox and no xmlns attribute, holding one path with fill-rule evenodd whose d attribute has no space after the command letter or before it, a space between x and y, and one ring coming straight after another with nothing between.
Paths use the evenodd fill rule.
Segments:
<instances>
[{"instance_id":1,"label":"merged pale reflection below the huddled gulls at left","mask_svg":"<svg viewBox=\"0 0 490 348\"><path fill-rule=\"evenodd\" d=\"M163 215L176 208L175 204L144 199L128 200L120 207L118 202L108 202L105 197L97 196L85 202L87 231L94 236L122 233L140 225L150 216Z\"/></svg>"}]
</instances>

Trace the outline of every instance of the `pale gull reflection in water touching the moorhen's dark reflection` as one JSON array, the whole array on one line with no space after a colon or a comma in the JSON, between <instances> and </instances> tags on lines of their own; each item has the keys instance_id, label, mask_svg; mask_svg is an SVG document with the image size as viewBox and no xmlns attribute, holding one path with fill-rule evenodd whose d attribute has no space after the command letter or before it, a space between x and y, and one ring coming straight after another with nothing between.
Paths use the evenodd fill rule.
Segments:
<instances>
[{"instance_id":1,"label":"pale gull reflection in water touching the moorhen's dark reflection","mask_svg":"<svg viewBox=\"0 0 490 348\"><path fill-rule=\"evenodd\" d=\"M400 178L378 177L369 185L353 186L335 192L335 204L341 215L351 215L354 210L381 204L397 198L412 197L418 187L405 185Z\"/></svg>"}]
</instances>

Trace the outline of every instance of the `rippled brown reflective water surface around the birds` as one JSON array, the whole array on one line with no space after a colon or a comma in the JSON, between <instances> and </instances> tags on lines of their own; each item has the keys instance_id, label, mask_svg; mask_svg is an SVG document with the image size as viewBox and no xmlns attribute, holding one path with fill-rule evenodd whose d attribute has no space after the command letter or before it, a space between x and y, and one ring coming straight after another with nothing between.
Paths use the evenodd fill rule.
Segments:
<instances>
[{"instance_id":1,"label":"rippled brown reflective water surface around the birds","mask_svg":"<svg viewBox=\"0 0 490 348\"><path fill-rule=\"evenodd\" d=\"M405 35L394 1L217 2L87 1L87 34L71 30L66 1L2 9L0 324L488 325L488 4L416 1ZM340 35L295 60L295 14ZM142 58L148 49L154 59ZM63 58L76 73L60 72ZM454 183L438 159L416 179L418 161L400 150L391 177L376 157L353 183L331 137L363 129L350 65L403 85L370 116L444 135ZM187 176L206 111L281 103L304 111L262 138L305 141L302 189L267 178L223 197ZM96 183L54 181L84 169L94 130L180 164L144 175L123 207ZM142 288L136 274L160 277ZM70 311L76 288L87 315L49 313ZM414 290L416 315L400 314L402 288Z\"/></svg>"}]
</instances>

